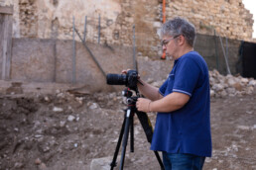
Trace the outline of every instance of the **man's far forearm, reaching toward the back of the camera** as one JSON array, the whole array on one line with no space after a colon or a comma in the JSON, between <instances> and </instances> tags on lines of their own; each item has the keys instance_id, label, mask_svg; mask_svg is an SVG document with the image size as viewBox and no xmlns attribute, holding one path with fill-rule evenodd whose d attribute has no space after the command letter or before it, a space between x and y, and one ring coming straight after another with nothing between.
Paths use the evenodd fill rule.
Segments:
<instances>
[{"instance_id":1,"label":"man's far forearm, reaching toward the back of the camera","mask_svg":"<svg viewBox=\"0 0 256 170\"><path fill-rule=\"evenodd\" d=\"M146 83L143 80L140 80L140 83L137 83L137 86L139 88L139 91L148 99L152 100L152 101L156 101L159 100L161 98L163 98L163 96L159 93L159 89Z\"/></svg>"}]
</instances>

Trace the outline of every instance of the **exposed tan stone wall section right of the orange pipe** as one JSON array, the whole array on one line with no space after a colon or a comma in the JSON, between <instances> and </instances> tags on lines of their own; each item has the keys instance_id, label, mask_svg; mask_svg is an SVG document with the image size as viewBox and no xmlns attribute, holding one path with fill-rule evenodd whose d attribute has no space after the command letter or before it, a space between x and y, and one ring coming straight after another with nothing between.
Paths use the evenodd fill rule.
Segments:
<instances>
[{"instance_id":1,"label":"exposed tan stone wall section right of the orange pipe","mask_svg":"<svg viewBox=\"0 0 256 170\"><path fill-rule=\"evenodd\" d=\"M252 14L245 9L242 0L172 0L167 16L187 17L200 34L250 41L252 38Z\"/></svg>"}]
</instances>

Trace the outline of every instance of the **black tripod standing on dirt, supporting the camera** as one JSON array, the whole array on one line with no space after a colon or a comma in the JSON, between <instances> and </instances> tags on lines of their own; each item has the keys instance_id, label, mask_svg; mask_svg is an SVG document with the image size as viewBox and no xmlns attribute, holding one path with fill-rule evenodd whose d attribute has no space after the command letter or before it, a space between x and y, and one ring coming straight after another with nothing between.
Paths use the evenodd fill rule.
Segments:
<instances>
[{"instance_id":1,"label":"black tripod standing on dirt, supporting the camera","mask_svg":"<svg viewBox=\"0 0 256 170\"><path fill-rule=\"evenodd\" d=\"M121 152L121 160L120 160L120 167L119 170L123 170L123 166L124 166L124 160L125 160L125 152L126 152L126 146L127 146L127 142L128 142L128 135L129 135L129 130L130 130L130 149L131 152L134 152L134 125L133 125L133 119L134 119L134 115L136 114L143 129L144 132L147 136L147 140L148 142L151 143L152 141L152 136L153 136L153 127L150 123L150 120L148 118L148 115L144 112L139 112L136 109L136 102L139 95L139 92L136 90L136 95L135 97L132 97L132 91L130 91L130 89L125 89L122 92L122 95L125 96L127 98L127 109L125 110L124 113L124 120L123 120L123 125L119 134L119 138L118 138L118 142L116 145L116 149L115 149L115 153L113 156L113 160L110 163L110 170L113 170L113 168L117 165L116 164L116 159L117 159L117 155L121 146L121 142L122 142L122 138L123 138L123 142L122 142L122 152ZM154 151L157 160L160 164L161 170L165 170L163 162L159 156L159 153L157 151Z\"/></svg>"}]
</instances>

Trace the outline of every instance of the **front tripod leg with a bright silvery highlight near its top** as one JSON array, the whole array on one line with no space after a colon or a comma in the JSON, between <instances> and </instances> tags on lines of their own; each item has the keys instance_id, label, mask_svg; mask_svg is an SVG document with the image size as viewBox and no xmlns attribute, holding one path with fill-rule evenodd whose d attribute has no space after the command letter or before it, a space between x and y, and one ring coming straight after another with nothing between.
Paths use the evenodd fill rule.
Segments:
<instances>
[{"instance_id":1,"label":"front tripod leg with a bright silvery highlight near its top","mask_svg":"<svg viewBox=\"0 0 256 170\"><path fill-rule=\"evenodd\" d=\"M121 155L119 170L122 170L123 166L124 166L125 151L126 151L126 145L127 145L127 142L128 142L129 127L130 127L130 117L131 117L131 109L128 109L126 111L124 139L123 139L123 143L122 143L122 155Z\"/></svg>"}]
</instances>

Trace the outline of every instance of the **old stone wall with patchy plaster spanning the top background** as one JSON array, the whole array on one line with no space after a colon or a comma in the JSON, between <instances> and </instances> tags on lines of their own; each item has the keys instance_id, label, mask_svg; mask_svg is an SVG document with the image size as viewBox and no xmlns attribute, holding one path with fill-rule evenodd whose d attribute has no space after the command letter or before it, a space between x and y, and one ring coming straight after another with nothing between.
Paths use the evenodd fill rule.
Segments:
<instances>
[{"instance_id":1,"label":"old stone wall with patchy plaster spanning the top background","mask_svg":"<svg viewBox=\"0 0 256 170\"><path fill-rule=\"evenodd\" d=\"M133 30L137 51L159 58L162 49L157 35L162 23L162 0L1 0L14 5L14 37L72 39L72 17L82 35L85 16L86 41L97 42L100 15L100 43L132 45ZM242 0L167 0L166 16L188 18L197 33L252 41L252 15ZM78 41L76 36L75 38Z\"/></svg>"}]
</instances>

